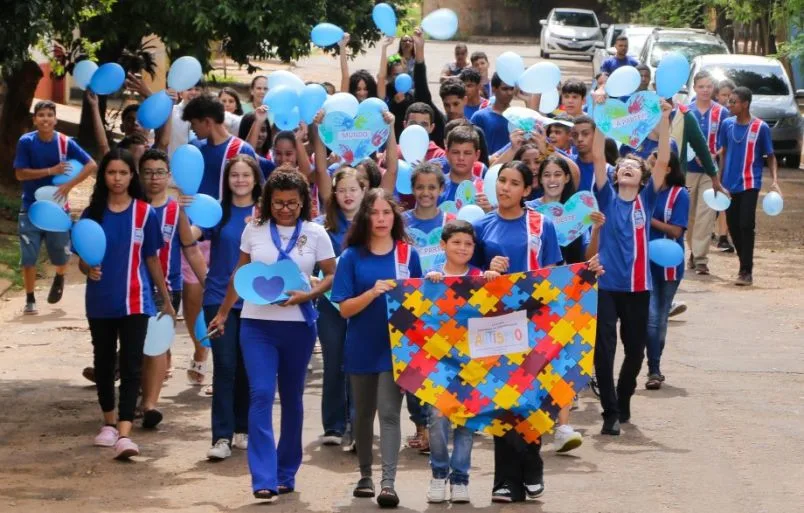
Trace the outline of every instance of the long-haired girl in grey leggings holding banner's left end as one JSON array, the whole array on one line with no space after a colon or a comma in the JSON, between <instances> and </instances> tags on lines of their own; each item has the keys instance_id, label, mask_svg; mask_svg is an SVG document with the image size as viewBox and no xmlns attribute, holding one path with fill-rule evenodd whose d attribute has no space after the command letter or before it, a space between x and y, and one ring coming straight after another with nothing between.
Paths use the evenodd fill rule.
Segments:
<instances>
[{"instance_id":1,"label":"long-haired girl in grey leggings holding banner's left end","mask_svg":"<svg viewBox=\"0 0 804 513\"><path fill-rule=\"evenodd\" d=\"M377 503L395 507L394 490L401 445L402 393L394 382L391 341L384 294L394 279L421 278L419 255L405 234L405 223L393 195L371 189L346 237L347 249L338 262L332 301L349 319L344 369L355 399L354 435L360 463L355 497L374 497L371 477L374 416L379 409L381 491Z\"/></svg>"}]
</instances>

